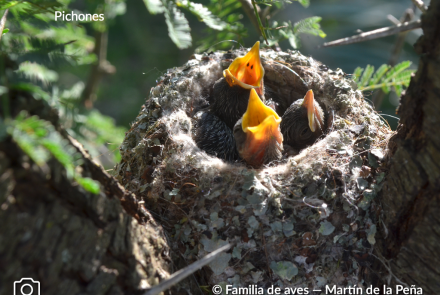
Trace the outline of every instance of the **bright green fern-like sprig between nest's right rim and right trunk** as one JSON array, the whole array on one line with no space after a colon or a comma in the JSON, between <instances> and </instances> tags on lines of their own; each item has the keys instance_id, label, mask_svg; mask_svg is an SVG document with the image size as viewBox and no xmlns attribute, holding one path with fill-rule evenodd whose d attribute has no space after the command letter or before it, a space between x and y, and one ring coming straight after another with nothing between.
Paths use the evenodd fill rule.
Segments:
<instances>
[{"instance_id":1,"label":"bright green fern-like sprig between nest's right rim and right trunk","mask_svg":"<svg viewBox=\"0 0 440 295\"><path fill-rule=\"evenodd\" d=\"M393 89L397 96L401 96L415 72L409 69L410 66L410 61L403 61L394 67L384 64L376 72L371 65L367 65L365 69L358 67L354 70L353 79L361 91L382 89L383 92L389 93Z\"/></svg>"}]
</instances>

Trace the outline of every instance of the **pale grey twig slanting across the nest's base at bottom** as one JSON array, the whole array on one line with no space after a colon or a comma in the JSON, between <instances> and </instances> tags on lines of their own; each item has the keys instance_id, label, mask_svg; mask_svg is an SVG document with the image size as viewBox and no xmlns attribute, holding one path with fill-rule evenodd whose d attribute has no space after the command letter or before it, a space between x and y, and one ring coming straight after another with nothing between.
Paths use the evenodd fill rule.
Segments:
<instances>
[{"instance_id":1,"label":"pale grey twig slanting across the nest's base at bottom","mask_svg":"<svg viewBox=\"0 0 440 295\"><path fill-rule=\"evenodd\" d=\"M231 247L232 247L231 244L227 244L227 245L215 250L214 252L209 253L208 255L203 257L202 259L200 259L200 260L188 265L187 267L173 273L167 280L163 281L159 285L154 286L153 288L151 288L150 290L145 292L144 295L157 295L160 292L163 292L163 291L169 289L170 287L177 284L178 282L180 282L181 280L183 280L187 276L196 272L201 267L203 267L203 266L207 265L208 263L210 263L211 261L213 261L215 258L217 258L217 256L219 254L221 254L224 251L229 250Z\"/></svg>"}]
</instances>

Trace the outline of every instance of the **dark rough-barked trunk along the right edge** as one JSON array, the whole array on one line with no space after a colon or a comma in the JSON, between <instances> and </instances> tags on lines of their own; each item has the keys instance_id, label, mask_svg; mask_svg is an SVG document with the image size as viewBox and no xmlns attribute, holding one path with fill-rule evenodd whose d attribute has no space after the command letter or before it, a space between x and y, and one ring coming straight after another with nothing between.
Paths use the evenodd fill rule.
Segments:
<instances>
[{"instance_id":1,"label":"dark rough-barked trunk along the right edge","mask_svg":"<svg viewBox=\"0 0 440 295\"><path fill-rule=\"evenodd\" d=\"M396 277L440 293L440 1L422 16L419 68L402 97L383 189L384 256Z\"/></svg>"}]
</instances>

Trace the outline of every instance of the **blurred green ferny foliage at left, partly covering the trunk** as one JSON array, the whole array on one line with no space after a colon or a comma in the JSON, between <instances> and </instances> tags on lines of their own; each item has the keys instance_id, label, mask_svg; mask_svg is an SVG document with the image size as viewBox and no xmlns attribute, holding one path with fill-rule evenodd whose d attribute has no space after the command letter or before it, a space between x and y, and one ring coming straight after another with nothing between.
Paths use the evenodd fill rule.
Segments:
<instances>
[{"instance_id":1,"label":"blurred green ferny foliage at left, partly covering the trunk","mask_svg":"<svg viewBox=\"0 0 440 295\"><path fill-rule=\"evenodd\" d=\"M0 44L0 101L3 103L0 107L0 140L10 136L38 165L44 166L49 159L57 160L64 166L68 177L96 193L98 184L77 172L80 155L50 122L26 112L11 118L9 110L11 95L27 92L56 109L64 129L95 159L99 159L103 151L110 154L112 160L119 159L117 147L123 140L125 129L117 127L111 118L97 110L82 107L80 97L84 83L79 82L67 90L56 85L60 70L73 70L72 66L77 65L90 66L96 60L92 53L93 38L87 35L84 26L75 22L54 23L54 12L69 12L69 2L0 0L0 10L9 8L8 30L1 32ZM108 0L103 5L96 4L95 8L98 11L105 9L107 19L123 13L125 4L123 0ZM95 27L94 24L91 26ZM100 26L105 27L105 23ZM109 153L107 149L114 152Z\"/></svg>"}]
</instances>

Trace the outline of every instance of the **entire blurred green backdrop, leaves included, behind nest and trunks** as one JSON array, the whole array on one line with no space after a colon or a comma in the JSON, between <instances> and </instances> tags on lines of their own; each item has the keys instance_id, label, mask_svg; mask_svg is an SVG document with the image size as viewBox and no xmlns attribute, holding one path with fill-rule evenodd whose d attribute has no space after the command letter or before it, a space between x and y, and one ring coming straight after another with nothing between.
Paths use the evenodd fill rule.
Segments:
<instances>
[{"instance_id":1,"label":"entire blurred green backdrop, leaves included, behind nest and trunks","mask_svg":"<svg viewBox=\"0 0 440 295\"><path fill-rule=\"evenodd\" d=\"M64 129L95 160L111 168L120 159L118 146L124 131L135 120L156 79L167 69L184 64L194 52L251 47L256 40L263 41L254 25L255 19L251 21L255 18L252 6L248 14L243 9L247 1L250 0L0 0L0 15L5 9L10 11L0 43L2 106L7 106L11 99L8 93L12 90L31 92L34 97L46 100L58 111ZM269 22L263 19L271 45L282 50L297 46L304 55L331 69L341 68L347 74L354 73L358 67L372 65L378 69L389 63L398 36L331 48L319 48L320 45L360 31L391 26L390 17L401 19L407 9L414 11L413 19L420 18L420 11L411 0L256 2L263 12L271 13ZM55 21L56 11L104 13L105 22ZM170 27L174 34L170 35ZM188 42L189 33L192 42ZM405 36L396 62L411 61L411 68L417 68L413 44L421 33L418 29ZM371 77L373 71L369 69ZM401 83L398 86L401 88L409 83L410 74L411 71L401 67L400 74L390 81L392 85L396 81ZM358 76L354 79L360 86L371 86L374 76L367 77L364 84L359 84L363 79L359 80ZM406 82L402 83L403 80ZM377 91L364 91L364 94L371 100ZM395 92L385 95L380 104L379 112L391 116L385 119L392 128L397 126L398 104ZM19 121L8 121L7 110L0 112L0 123L1 115L6 118L6 124L3 127L0 124L0 131L18 128ZM28 114L22 114L21 118L28 118ZM32 142L32 148L28 149L31 152L36 147L45 150L42 142L49 135L37 138L23 133L14 139L23 144ZM64 149L61 141L53 144L59 151ZM75 158L73 154L65 156L65 159ZM37 159L37 154L33 157L41 163L47 158ZM73 160L65 162L75 166Z\"/></svg>"}]
</instances>

